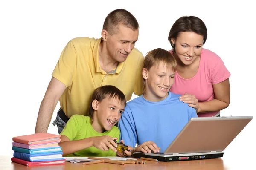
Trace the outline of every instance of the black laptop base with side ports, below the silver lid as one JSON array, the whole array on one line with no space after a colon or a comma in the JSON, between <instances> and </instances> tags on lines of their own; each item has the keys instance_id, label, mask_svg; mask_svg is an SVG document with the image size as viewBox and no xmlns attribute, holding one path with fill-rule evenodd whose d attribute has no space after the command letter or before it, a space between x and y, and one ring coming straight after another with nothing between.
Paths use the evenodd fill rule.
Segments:
<instances>
[{"instance_id":1,"label":"black laptop base with side ports, below the silver lid","mask_svg":"<svg viewBox=\"0 0 256 170\"><path fill-rule=\"evenodd\" d=\"M157 159L158 161L169 162L169 161L189 161L189 160L201 160L201 159L214 159L223 157L224 153L214 153L214 154L197 154L191 156L153 156L153 155L146 155L145 153L134 153L132 156L135 158L153 158Z\"/></svg>"}]
</instances>

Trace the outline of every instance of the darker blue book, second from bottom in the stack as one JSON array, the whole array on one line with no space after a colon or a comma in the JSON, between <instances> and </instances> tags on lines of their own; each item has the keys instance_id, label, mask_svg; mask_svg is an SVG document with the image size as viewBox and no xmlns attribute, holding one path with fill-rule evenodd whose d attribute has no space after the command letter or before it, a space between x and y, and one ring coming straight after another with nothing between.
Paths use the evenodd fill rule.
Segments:
<instances>
[{"instance_id":1,"label":"darker blue book, second from bottom in the stack","mask_svg":"<svg viewBox=\"0 0 256 170\"><path fill-rule=\"evenodd\" d=\"M63 160L63 152L28 154L14 151L13 157L29 162L57 161Z\"/></svg>"}]
</instances>

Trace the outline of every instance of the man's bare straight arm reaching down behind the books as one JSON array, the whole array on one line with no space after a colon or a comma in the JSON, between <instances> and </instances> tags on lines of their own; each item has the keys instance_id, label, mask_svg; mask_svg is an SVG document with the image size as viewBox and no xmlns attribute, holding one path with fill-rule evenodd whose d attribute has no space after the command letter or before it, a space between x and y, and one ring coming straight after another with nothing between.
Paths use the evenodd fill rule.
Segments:
<instances>
[{"instance_id":1,"label":"man's bare straight arm reaching down behind the books","mask_svg":"<svg viewBox=\"0 0 256 170\"><path fill-rule=\"evenodd\" d=\"M52 113L65 89L61 81L52 77L39 108L35 133L47 133Z\"/></svg>"}]
</instances>

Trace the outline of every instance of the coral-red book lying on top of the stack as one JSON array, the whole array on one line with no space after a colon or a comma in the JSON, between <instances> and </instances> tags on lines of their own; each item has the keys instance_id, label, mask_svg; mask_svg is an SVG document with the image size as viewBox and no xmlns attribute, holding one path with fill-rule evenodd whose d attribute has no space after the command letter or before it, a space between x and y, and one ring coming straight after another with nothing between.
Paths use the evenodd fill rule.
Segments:
<instances>
[{"instance_id":1,"label":"coral-red book lying on top of the stack","mask_svg":"<svg viewBox=\"0 0 256 170\"><path fill-rule=\"evenodd\" d=\"M51 133L35 133L31 135L13 137L12 141L22 144L36 145L61 141L60 137L61 135L55 135Z\"/></svg>"}]
</instances>

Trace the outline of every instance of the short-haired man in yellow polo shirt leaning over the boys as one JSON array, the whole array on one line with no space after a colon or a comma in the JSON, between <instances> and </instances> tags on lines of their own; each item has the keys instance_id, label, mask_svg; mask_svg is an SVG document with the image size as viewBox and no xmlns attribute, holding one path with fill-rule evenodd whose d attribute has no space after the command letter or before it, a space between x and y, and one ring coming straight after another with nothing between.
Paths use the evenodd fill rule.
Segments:
<instances>
[{"instance_id":1,"label":"short-haired man in yellow polo shirt leaning over the boys","mask_svg":"<svg viewBox=\"0 0 256 170\"><path fill-rule=\"evenodd\" d=\"M35 133L47 133L58 101L61 109L53 125L57 125L59 133L71 115L88 115L91 95L99 86L116 86L127 101L133 92L142 95L144 57L134 48L138 35L136 18L125 9L116 9L105 19L102 38L70 40L52 72Z\"/></svg>"}]
</instances>

